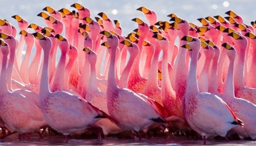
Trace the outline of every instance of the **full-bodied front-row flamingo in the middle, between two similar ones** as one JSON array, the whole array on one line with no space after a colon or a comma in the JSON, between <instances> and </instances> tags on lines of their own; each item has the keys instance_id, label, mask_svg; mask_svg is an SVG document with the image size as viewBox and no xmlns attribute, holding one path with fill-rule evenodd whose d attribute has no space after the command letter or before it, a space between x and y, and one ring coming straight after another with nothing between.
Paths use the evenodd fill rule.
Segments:
<instances>
[{"instance_id":1,"label":"full-bodied front-row flamingo in the middle, between two similar ones","mask_svg":"<svg viewBox=\"0 0 256 146\"><path fill-rule=\"evenodd\" d=\"M135 92L126 88L117 87L115 82L115 55L118 38L106 30L100 33L107 37L107 41L111 46L111 62L106 96L108 112L111 117L117 121L117 126L123 130L139 132L140 130L148 128L155 122L165 122L165 120ZM138 110L140 112L138 112Z\"/></svg>"}]
</instances>

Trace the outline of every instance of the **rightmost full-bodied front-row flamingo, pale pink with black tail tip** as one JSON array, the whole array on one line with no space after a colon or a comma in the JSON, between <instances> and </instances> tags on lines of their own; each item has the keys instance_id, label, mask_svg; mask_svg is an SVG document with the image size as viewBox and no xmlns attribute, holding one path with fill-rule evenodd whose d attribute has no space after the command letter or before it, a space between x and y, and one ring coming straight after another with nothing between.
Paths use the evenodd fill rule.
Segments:
<instances>
[{"instance_id":1,"label":"rightmost full-bodied front-row flamingo, pale pink with black tail tip","mask_svg":"<svg viewBox=\"0 0 256 146\"><path fill-rule=\"evenodd\" d=\"M200 40L191 36L184 36L182 40L189 41L191 48L187 49L192 53L187 88L183 101L183 112L190 127L202 135L204 144L206 144L207 137L215 135L225 137L226 133L233 127L237 125L243 126L243 122L236 118L230 107L221 98L215 94L199 92L196 66Z\"/></svg>"}]
</instances>

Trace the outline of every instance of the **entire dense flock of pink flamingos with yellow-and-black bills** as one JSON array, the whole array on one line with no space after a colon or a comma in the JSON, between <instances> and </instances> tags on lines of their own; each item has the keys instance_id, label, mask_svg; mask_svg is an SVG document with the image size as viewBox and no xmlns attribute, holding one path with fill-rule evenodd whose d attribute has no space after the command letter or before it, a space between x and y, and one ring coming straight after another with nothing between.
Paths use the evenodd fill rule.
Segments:
<instances>
[{"instance_id":1,"label":"entire dense flock of pink flamingos with yellow-and-black bills","mask_svg":"<svg viewBox=\"0 0 256 146\"><path fill-rule=\"evenodd\" d=\"M142 6L148 23L132 19L138 28L124 36L106 13L93 19L71 6L43 8L44 28L14 15L19 41L0 19L2 138L51 127L66 142L86 129L98 140L123 131L141 140L152 129L195 131L204 144L217 135L228 141L230 131L256 140L256 21L228 11L196 26L174 13L158 21Z\"/></svg>"}]
</instances>

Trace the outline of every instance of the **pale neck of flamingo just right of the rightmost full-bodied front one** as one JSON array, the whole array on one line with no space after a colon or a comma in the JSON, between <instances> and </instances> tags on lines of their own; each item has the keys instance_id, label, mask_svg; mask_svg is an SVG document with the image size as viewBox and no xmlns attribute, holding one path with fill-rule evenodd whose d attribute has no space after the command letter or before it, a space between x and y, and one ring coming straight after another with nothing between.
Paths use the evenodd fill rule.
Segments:
<instances>
[{"instance_id":1,"label":"pale neck of flamingo just right of the rightmost full-bodied front one","mask_svg":"<svg viewBox=\"0 0 256 146\"><path fill-rule=\"evenodd\" d=\"M224 95L226 98L234 97L234 59L229 59Z\"/></svg>"}]
</instances>

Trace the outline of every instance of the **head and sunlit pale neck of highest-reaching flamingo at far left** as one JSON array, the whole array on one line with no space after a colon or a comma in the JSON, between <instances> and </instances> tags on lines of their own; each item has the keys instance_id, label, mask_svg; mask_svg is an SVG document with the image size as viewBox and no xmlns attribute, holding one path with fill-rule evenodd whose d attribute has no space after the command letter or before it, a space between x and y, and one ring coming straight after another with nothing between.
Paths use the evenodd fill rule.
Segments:
<instances>
[{"instance_id":1,"label":"head and sunlit pale neck of highest-reaching flamingo at far left","mask_svg":"<svg viewBox=\"0 0 256 146\"><path fill-rule=\"evenodd\" d=\"M12 18L14 18L15 20L18 21L18 26L20 28L20 30L28 30L28 21L24 20L22 17L20 17L19 15L14 15L12 16ZM18 70L20 70L20 65L21 65L21 60L22 60L22 51L23 51L23 46L24 46L24 35L20 36L20 41L19 41L19 45L16 51L16 60L17 60L17 65L18 65Z\"/></svg>"}]
</instances>

